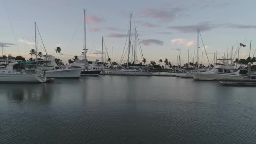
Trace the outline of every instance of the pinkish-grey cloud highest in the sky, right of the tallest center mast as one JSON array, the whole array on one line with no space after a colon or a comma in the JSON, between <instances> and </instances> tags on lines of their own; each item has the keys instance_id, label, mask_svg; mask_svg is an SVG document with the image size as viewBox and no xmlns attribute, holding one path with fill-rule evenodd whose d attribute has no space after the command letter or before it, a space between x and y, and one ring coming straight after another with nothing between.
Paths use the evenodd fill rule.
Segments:
<instances>
[{"instance_id":1,"label":"pinkish-grey cloud highest in the sky, right of the tallest center mast","mask_svg":"<svg viewBox=\"0 0 256 144\"><path fill-rule=\"evenodd\" d=\"M173 21L173 19L176 19L183 11L184 9L179 7L162 9L147 8L140 12L140 16L153 18L162 22Z\"/></svg>"}]
</instances>

